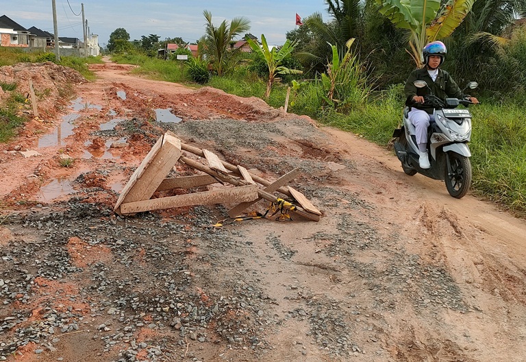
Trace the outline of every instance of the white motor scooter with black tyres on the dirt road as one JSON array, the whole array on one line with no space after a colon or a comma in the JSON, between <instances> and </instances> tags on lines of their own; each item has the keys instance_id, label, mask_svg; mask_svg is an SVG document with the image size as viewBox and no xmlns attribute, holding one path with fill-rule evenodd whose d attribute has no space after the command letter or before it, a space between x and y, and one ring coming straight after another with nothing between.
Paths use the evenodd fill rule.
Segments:
<instances>
[{"instance_id":1,"label":"white motor scooter with black tyres on the dirt road","mask_svg":"<svg viewBox=\"0 0 526 362\"><path fill-rule=\"evenodd\" d=\"M416 88L423 88L423 80L414 82ZM477 82L469 82L466 88L477 88ZM429 169L418 165L418 145L416 145L414 125L408 119L410 108L403 110L403 124L393 133L394 146L403 171L409 176L421 173L435 180L444 180L449 195L460 199L471 186L471 152L468 142L471 139L471 113L466 109L455 109L462 104L472 104L466 99L447 98L445 103L435 95L424 96L425 105L434 108L434 121L428 128L427 152Z\"/></svg>"}]
</instances>

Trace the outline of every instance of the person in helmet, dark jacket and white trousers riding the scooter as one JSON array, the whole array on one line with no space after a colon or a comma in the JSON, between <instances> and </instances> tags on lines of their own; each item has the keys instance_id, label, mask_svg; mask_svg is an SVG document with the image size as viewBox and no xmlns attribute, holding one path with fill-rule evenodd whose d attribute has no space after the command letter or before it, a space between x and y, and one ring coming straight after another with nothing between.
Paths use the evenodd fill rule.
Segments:
<instances>
[{"instance_id":1,"label":"person in helmet, dark jacket and white trousers riding the scooter","mask_svg":"<svg viewBox=\"0 0 526 362\"><path fill-rule=\"evenodd\" d=\"M412 71L407 82L405 82L404 93L407 99L405 106L410 107L409 121L416 130L416 143L418 144L418 165L422 169L429 169L429 156L427 154L427 128L429 122L434 121L432 106L424 105L424 95L434 94L442 100L446 97L468 99L474 104L479 103L477 98L464 95L447 71L440 69L444 62L447 49L441 41L434 41L426 45L422 51L424 67ZM414 81L425 80L429 88L416 88Z\"/></svg>"}]
</instances>

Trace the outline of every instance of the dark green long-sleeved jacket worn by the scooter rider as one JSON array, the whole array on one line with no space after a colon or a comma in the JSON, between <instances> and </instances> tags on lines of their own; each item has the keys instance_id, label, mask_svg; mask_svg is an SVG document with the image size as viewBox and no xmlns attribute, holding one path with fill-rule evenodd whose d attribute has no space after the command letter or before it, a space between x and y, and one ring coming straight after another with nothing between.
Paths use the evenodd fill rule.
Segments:
<instances>
[{"instance_id":1,"label":"dark green long-sleeved jacket worn by the scooter rider","mask_svg":"<svg viewBox=\"0 0 526 362\"><path fill-rule=\"evenodd\" d=\"M433 80L429 76L429 73L427 73L426 67L416 69L411 72L411 74L408 77L408 81L405 82L405 87L403 88L405 97L407 97L405 99L405 105L425 110L429 114L433 113L433 108L424 107L421 104L414 103L412 101L415 95L430 94L429 89L427 87L416 88L416 86L414 86L413 84L415 80L425 80L427 86L429 86L429 88L431 88L431 90L433 91L433 94L439 97L440 99L446 99L447 97L463 99L464 97L467 97L467 95L464 95L462 93L462 90L449 76L449 73L447 73L447 71L443 71L439 68L436 80L435 82L433 82Z\"/></svg>"}]
</instances>

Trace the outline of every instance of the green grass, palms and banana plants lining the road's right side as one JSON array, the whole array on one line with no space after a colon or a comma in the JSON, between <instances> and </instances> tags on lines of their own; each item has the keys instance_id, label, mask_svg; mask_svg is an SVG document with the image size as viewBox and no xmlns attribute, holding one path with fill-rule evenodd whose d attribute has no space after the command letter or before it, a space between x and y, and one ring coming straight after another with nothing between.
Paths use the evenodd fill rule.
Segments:
<instances>
[{"instance_id":1,"label":"green grass, palms and banana plants lining the road's right side","mask_svg":"<svg viewBox=\"0 0 526 362\"><path fill-rule=\"evenodd\" d=\"M401 121L403 84L421 64L423 45L440 39L449 49L443 68L461 88L479 83L473 95L481 104L471 108L472 190L526 215L526 27L516 21L526 1L428 0L408 5L409 12L395 0L324 3L281 47L247 34L245 18L216 25L204 10L204 34L194 43L155 34L130 40L118 28L108 50L112 60L136 64L134 73L260 97L387 147ZM252 52L234 47L237 40ZM168 44L177 45L171 54Z\"/></svg>"}]
</instances>

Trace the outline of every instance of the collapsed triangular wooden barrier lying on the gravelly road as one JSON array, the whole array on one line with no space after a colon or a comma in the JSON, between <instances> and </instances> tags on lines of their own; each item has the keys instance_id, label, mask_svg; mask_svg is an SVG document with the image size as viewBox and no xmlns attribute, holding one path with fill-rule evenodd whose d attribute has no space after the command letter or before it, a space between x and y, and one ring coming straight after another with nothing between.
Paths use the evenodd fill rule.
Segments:
<instances>
[{"instance_id":1,"label":"collapsed triangular wooden barrier lying on the gravelly road","mask_svg":"<svg viewBox=\"0 0 526 362\"><path fill-rule=\"evenodd\" d=\"M208 166L182 156L183 151L205 159ZM203 174L166 178L178 161L202 171ZM272 192L277 191L285 197L294 197L301 205L295 206L288 203L288 209L307 219L319 221L321 212L303 194L290 187L284 187L298 175L299 169L294 169L278 180L269 182L245 169L245 167L231 165L220 160L216 154L206 149L201 150L185 145L177 138L177 135L168 131L153 145L127 182L123 192L118 197L114 211L119 215L134 215L143 211L181 206L238 203L236 207L229 210L229 215L234 217L258 200L265 199L278 204L281 198L272 194ZM190 189L218 182L230 185L212 191L151 199L155 191L175 188ZM264 189L260 189L257 183L262 184Z\"/></svg>"}]
</instances>

